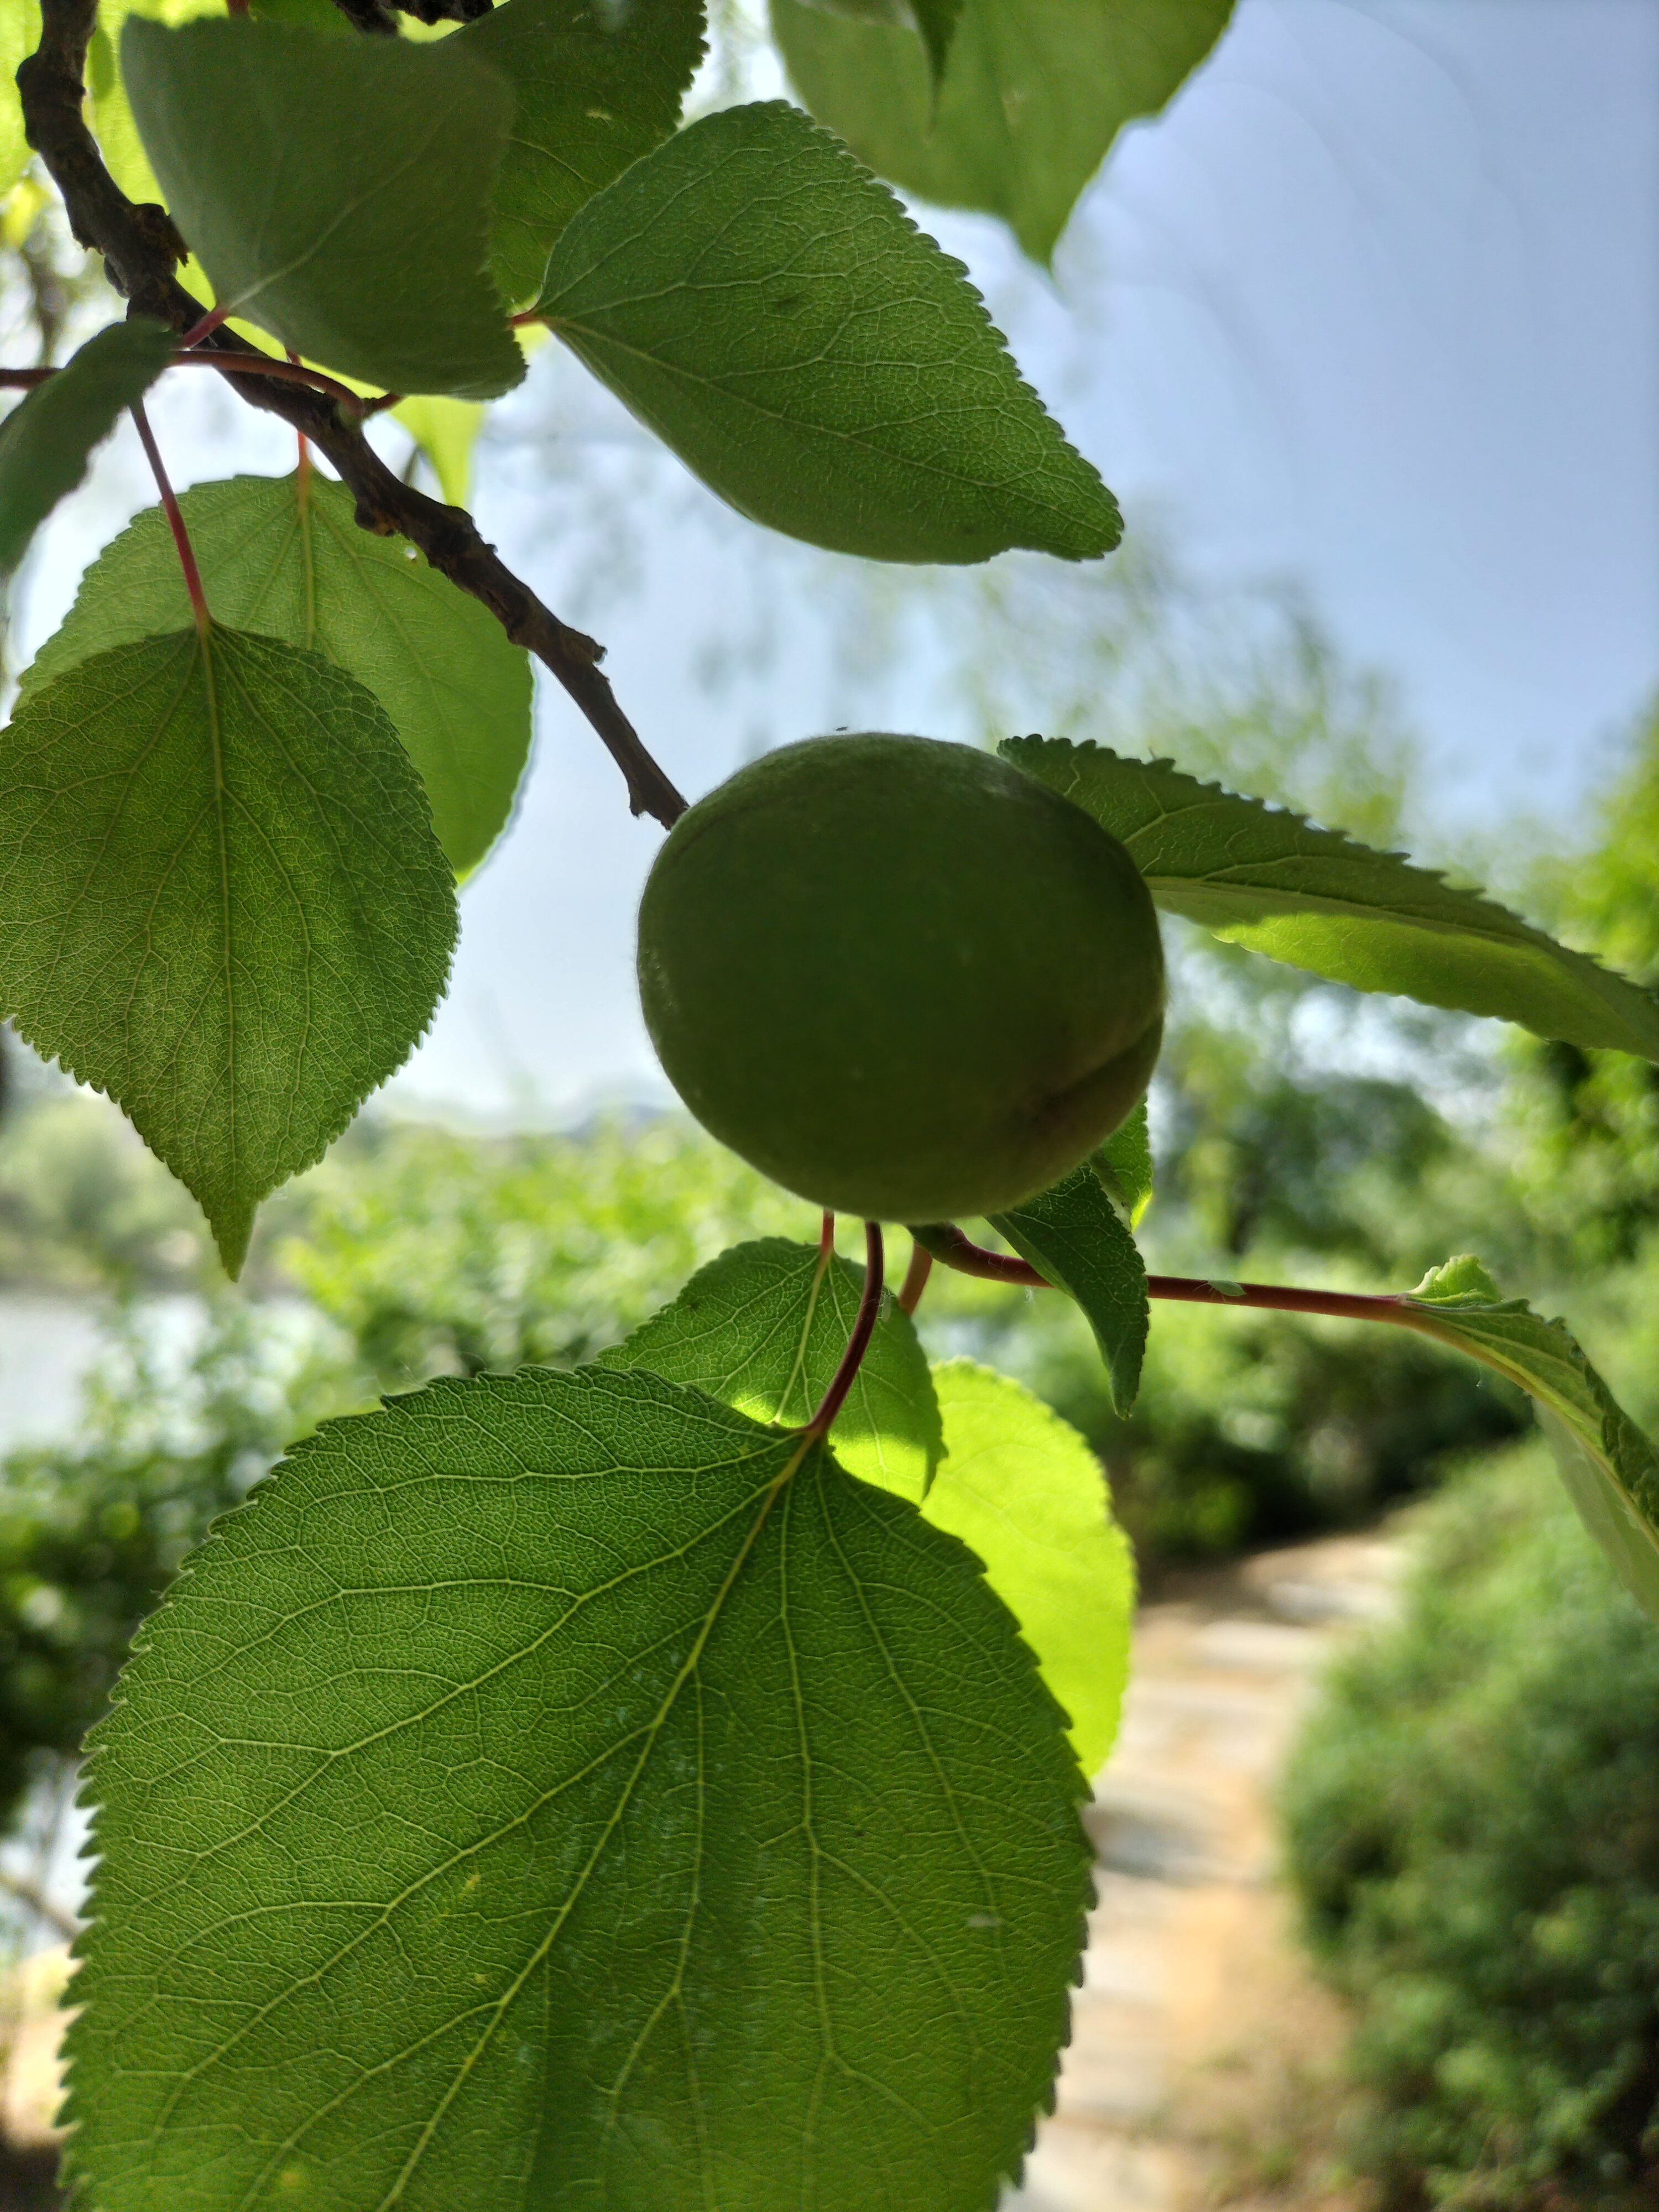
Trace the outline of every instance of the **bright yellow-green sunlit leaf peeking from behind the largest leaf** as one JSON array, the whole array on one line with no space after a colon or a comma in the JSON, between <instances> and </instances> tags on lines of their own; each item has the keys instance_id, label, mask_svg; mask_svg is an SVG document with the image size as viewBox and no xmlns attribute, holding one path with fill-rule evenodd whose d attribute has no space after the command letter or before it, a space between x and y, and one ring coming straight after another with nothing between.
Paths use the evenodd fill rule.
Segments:
<instances>
[{"instance_id":1,"label":"bright yellow-green sunlit leaf peeking from behind the largest leaf","mask_svg":"<svg viewBox=\"0 0 1659 2212\"><path fill-rule=\"evenodd\" d=\"M1117 1736L1135 1613L1135 1559L1088 1444L1009 1376L971 1360L933 1369L945 1467L927 1520L984 1559L1095 1774Z\"/></svg>"}]
</instances>

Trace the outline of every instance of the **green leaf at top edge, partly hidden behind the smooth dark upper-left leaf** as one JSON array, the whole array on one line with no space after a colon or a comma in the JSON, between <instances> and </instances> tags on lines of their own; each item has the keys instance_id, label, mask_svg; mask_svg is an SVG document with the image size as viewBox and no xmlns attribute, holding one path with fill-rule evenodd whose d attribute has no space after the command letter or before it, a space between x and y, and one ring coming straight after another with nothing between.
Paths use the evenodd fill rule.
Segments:
<instances>
[{"instance_id":1,"label":"green leaf at top edge, partly hidden behind the smooth dark upper-left leaf","mask_svg":"<svg viewBox=\"0 0 1659 2212\"><path fill-rule=\"evenodd\" d=\"M491 195L491 265L504 299L535 299L582 201L679 122L703 58L703 0L504 0L445 51L498 69L518 97Z\"/></svg>"}]
</instances>

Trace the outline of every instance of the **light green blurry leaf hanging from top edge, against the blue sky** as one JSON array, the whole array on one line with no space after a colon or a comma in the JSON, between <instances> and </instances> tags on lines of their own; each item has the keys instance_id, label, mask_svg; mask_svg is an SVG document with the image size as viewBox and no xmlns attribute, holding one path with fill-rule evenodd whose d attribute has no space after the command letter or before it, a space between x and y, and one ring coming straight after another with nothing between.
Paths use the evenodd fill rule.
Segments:
<instances>
[{"instance_id":1,"label":"light green blurry leaf hanging from top edge, against the blue sky","mask_svg":"<svg viewBox=\"0 0 1659 2212\"><path fill-rule=\"evenodd\" d=\"M772 0L772 35L803 102L876 175L1000 215L1046 263L1117 133L1157 115L1230 13L1232 0L964 0L938 95L911 31Z\"/></svg>"}]
</instances>

